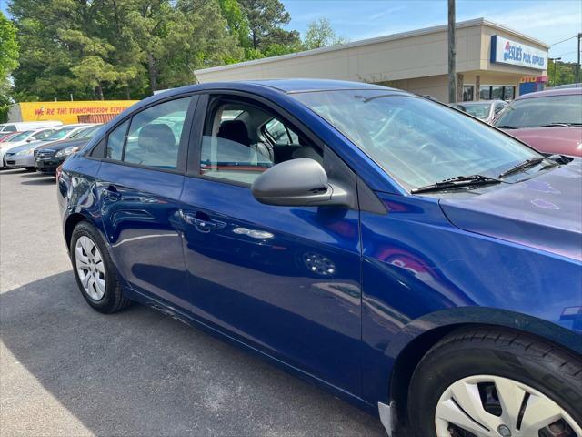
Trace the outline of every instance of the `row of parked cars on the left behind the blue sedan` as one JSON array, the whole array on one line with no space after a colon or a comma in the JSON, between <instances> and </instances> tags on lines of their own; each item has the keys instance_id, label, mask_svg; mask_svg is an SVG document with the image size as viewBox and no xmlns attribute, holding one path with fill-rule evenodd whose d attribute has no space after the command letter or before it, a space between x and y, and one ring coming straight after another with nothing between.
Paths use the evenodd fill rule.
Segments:
<instances>
[{"instance_id":1,"label":"row of parked cars on the left behind the blue sedan","mask_svg":"<svg viewBox=\"0 0 582 437\"><path fill-rule=\"evenodd\" d=\"M84 147L101 125L72 124L38 127L36 123L16 124L24 128L0 138L0 168L25 168L55 174L69 155Z\"/></svg>"}]
</instances>

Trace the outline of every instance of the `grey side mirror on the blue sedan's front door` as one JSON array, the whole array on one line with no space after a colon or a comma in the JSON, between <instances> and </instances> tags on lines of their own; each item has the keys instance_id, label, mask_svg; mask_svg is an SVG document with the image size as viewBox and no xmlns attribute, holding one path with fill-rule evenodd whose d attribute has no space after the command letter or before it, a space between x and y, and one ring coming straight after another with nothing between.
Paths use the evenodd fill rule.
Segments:
<instances>
[{"instance_id":1,"label":"grey side mirror on the blue sedan's front door","mask_svg":"<svg viewBox=\"0 0 582 437\"><path fill-rule=\"evenodd\" d=\"M326 170L316 160L296 158L269 168L251 186L253 196L266 205L349 205L343 188L327 181Z\"/></svg>"}]
</instances>

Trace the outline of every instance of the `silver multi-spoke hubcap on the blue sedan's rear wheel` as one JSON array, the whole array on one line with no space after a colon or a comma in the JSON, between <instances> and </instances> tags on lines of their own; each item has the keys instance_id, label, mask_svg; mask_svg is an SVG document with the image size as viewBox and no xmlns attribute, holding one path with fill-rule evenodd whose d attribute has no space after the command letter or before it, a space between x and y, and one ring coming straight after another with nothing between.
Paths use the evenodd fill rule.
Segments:
<instances>
[{"instance_id":1,"label":"silver multi-spoke hubcap on the blue sedan's rear wheel","mask_svg":"<svg viewBox=\"0 0 582 437\"><path fill-rule=\"evenodd\" d=\"M105 266L95 242L81 236L75 244L75 266L83 290L92 300L105 296Z\"/></svg>"}]
</instances>

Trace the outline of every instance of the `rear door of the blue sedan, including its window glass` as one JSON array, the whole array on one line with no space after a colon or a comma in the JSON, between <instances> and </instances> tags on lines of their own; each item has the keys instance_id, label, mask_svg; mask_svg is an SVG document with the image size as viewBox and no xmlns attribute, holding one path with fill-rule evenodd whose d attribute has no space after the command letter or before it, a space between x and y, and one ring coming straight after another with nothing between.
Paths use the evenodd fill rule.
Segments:
<instances>
[{"instance_id":1,"label":"rear door of the blue sedan, including its window glass","mask_svg":"<svg viewBox=\"0 0 582 437\"><path fill-rule=\"evenodd\" d=\"M189 308L179 198L197 97L147 107L107 136L97 175L115 265L137 292Z\"/></svg>"}]
</instances>

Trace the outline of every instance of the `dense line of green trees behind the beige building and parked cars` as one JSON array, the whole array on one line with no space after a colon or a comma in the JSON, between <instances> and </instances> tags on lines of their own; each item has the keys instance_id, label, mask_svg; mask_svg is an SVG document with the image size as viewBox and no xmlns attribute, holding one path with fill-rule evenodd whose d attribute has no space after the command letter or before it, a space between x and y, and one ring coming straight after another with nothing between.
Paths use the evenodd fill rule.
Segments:
<instances>
[{"instance_id":1,"label":"dense line of green trees behind the beige building and parked cars","mask_svg":"<svg viewBox=\"0 0 582 437\"><path fill-rule=\"evenodd\" d=\"M199 68L343 41L322 18L302 42L279 0L12 0L9 10L15 25L0 17L0 41L17 29L18 101L143 98L192 83ZM0 44L0 79L17 48Z\"/></svg>"}]
</instances>

